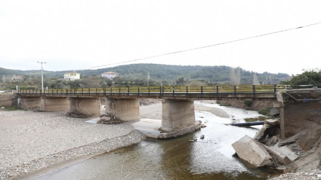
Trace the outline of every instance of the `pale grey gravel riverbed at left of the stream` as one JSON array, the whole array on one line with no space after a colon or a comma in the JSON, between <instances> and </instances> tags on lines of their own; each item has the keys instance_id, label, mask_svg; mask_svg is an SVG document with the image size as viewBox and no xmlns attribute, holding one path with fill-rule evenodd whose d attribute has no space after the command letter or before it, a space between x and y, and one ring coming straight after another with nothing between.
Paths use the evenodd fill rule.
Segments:
<instances>
[{"instance_id":1,"label":"pale grey gravel riverbed at left of the stream","mask_svg":"<svg viewBox=\"0 0 321 180\"><path fill-rule=\"evenodd\" d=\"M136 144L145 136L127 122L86 123L66 112L0 111L0 180Z\"/></svg>"}]
</instances>

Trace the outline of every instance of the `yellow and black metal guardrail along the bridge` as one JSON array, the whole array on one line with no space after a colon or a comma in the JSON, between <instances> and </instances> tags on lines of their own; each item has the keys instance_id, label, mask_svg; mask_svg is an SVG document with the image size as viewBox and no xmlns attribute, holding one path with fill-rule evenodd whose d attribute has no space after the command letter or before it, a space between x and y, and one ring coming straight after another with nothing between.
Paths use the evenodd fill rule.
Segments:
<instances>
[{"instance_id":1,"label":"yellow and black metal guardrail along the bridge","mask_svg":"<svg viewBox=\"0 0 321 180\"><path fill-rule=\"evenodd\" d=\"M93 95L93 94L155 94L155 93L276 93L286 90L288 85L242 85L242 86L173 86L173 87L130 87L130 88L82 88L82 89L49 89L18 90L18 95Z\"/></svg>"}]
</instances>

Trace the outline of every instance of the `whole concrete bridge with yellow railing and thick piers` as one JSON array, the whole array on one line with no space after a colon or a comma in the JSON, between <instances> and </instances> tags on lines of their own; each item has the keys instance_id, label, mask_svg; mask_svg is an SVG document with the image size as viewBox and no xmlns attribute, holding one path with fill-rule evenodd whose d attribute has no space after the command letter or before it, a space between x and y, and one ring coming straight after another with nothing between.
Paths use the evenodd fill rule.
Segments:
<instances>
[{"instance_id":1,"label":"whole concrete bridge with yellow railing and thick piers","mask_svg":"<svg viewBox=\"0 0 321 180\"><path fill-rule=\"evenodd\" d=\"M200 128L195 122L194 100L265 100L281 109L281 130L285 137L286 110L283 92L287 86L207 86L207 87L135 87L104 89L18 90L22 108L41 107L43 110L78 110L101 112L100 98L106 98L106 112L123 121L140 119L139 99L162 99L161 128L175 137ZM289 94L289 93L287 93ZM291 96L291 95L290 95ZM288 97L290 97L288 96ZM278 98L277 98L278 97ZM283 120L282 120L283 119ZM174 134L173 134L174 133Z\"/></svg>"}]
</instances>

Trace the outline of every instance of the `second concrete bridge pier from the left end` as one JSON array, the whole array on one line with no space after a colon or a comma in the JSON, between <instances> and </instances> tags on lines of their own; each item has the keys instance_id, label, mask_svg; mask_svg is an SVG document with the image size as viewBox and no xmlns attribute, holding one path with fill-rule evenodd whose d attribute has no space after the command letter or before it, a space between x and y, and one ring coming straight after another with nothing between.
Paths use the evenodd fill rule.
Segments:
<instances>
[{"instance_id":1,"label":"second concrete bridge pier from the left end","mask_svg":"<svg viewBox=\"0 0 321 180\"><path fill-rule=\"evenodd\" d=\"M41 98L41 109L50 111L68 110L69 104L67 98Z\"/></svg>"}]
</instances>

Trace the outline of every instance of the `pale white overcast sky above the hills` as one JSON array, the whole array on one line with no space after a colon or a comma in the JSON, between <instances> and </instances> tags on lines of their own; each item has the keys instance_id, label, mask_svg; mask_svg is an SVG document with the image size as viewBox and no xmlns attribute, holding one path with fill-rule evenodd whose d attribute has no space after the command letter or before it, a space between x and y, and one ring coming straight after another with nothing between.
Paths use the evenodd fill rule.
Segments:
<instances>
[{"instance_id":1,"label":"pale white overcast sky above the hills","mask_svg":"<svg viewBox=\"0 0 321 180\"><path fill-rule=\"evenodd\" d=\"M321 68L321 0L0 0L0 67L37 61L48 71L156 63L298 74Z\"/></svg>"}]
</instances>

